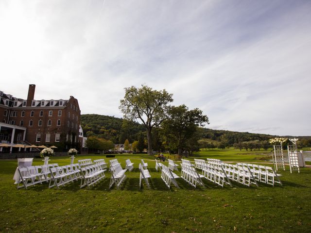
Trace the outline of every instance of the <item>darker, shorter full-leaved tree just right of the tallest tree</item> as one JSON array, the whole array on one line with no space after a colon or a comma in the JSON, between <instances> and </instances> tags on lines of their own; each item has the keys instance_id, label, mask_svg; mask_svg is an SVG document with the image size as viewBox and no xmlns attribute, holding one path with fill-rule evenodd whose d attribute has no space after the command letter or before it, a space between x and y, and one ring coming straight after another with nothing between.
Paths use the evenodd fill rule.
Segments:
<instances>
[{"instance_id":1,"label":"darker, shorter full-leaved tree just right of the tallest tree","mask_svg":"<svg viewBox=\"0 0 311 233\"><path fill-rule=\"evenodd\" d=\"M188 110L186 105L173 106L169 110L169 118L163 121L162 129L178 148L178 155L181 155L189 140L197 131L197 126L209 124L208 117L202 114L202 110L195 108Z\"/></svg>"}]
</instances>

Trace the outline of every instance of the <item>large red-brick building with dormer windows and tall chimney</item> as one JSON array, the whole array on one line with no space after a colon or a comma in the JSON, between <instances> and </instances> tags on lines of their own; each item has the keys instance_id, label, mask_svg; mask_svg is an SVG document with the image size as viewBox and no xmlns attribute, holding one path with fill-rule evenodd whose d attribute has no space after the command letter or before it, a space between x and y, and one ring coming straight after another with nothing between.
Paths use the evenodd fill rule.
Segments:
<instances>
[{"instance_id":1,"label":"large red-brick building with dormer windows and tall chimney","mask_svg":"<svg viewBox=\"0 0 311 233\"><path fill-rule=\"evenodd\" d=\"M30 84L27 100L0 91L0 142L80 148L78 100L34 100ZM11 148L12 151L12 148Z\"/></svg>"}]
</instances>

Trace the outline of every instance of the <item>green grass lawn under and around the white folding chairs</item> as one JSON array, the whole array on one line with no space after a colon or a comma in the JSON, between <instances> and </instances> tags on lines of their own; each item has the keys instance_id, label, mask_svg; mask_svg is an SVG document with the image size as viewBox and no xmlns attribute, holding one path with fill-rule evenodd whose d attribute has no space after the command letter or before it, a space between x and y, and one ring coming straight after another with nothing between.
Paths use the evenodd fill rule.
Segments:
<instances>
[{"instance_id":1,"label":"green grass lawn under and around the white folding chairs","mask_svg":"<svg viewBox=\"0 0 311 233\"><path fill-rule=\"evenodd\" d=\"M231 151L231 156L227 150L215 150L207 157L254 163L262 157ZM203 158L204 152L196 157ZM74 182L59 190L47 184L17 190L12 180L17 160L0 161L0 232L311 232L311 168L291 174L286 167L280 172L283 186L233 183L233 188L221 188L204 180L207 188L194 189L178 179L181 188L169 190L155 171L153 157L122 154L116 158L122 167L127 158L135 163L134 170L126 172L121 190L109 189L108 172L91 189L80 189L80 183ZM148 163L151 190L146 185L139 190L141 158ZM70 159L52 157L50 163L66 165ZM34 165L42 164L41 159L34 159Z\"/></svg>"}]
</instances>

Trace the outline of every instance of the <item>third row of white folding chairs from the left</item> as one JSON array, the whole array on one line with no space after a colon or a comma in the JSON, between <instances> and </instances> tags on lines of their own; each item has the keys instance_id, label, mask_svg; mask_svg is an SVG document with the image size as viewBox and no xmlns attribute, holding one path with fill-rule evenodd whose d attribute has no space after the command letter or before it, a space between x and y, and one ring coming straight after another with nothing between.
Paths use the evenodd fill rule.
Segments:
<instances>
[{"instance_id":1,"label":"third row of white folding chairs from the left","mask_svg":"<svg viewBox=\"0 0 311 233\"><path fill-rule=\"evenodd\" d=\"M90 188L90 185L93 185L105 177L106 169L103 169L102 165L95 164L90 166L85 166L81 168L81 183L80 188L87 185Z\"/></svg>"}]
</instances>

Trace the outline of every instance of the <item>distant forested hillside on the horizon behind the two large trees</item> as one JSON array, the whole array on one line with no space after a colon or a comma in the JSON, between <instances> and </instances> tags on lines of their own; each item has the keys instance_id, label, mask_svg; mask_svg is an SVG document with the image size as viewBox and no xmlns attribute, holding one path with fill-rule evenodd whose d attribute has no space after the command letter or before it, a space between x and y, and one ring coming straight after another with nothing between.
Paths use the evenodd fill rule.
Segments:
<instances>
[{"instance_id":1,"label":"distant forested hillside on the horizon behind the two large trees","mask_svg":"<svg viewBox=\"0 0 311 233\"><path fill-rule=\"evenodd\" d=\"M112 140L115 144L123 144L125 139L130 143L138 140L140 132L145 133L142 124L123 120L114 116L103 116L97 114L81 115L81 125L85 135L96 134L99 137ZM233 132L226 130L203 129L202 138L209 138L216 141L225 142L227 145L252 140L268 140L276 135ZM291 137L291 136L288 136ZM311 137L298 137L300 139L311 139Z\"/></svg>"}]
</instances>

